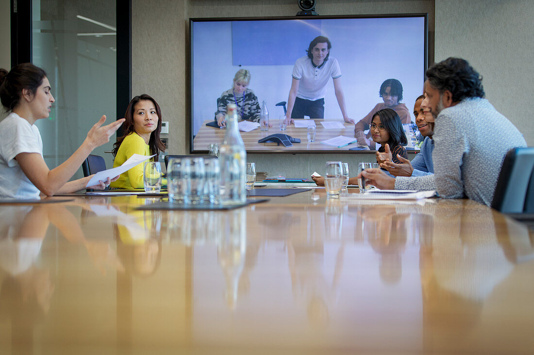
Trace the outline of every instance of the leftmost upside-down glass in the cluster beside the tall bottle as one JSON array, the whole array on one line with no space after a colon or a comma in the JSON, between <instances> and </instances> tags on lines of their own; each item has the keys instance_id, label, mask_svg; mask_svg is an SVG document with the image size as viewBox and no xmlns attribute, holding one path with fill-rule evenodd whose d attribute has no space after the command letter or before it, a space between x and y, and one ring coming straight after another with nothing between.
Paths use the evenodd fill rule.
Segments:
<instances>
[{"instance_id":1,"label":"leftmost upside-down glass in the cluster beside the tall bottle","mask_svg":"<svg viewBox=\"0 0 534 355\"><path fill-rule=\"evenodd\" d=\"M191 189L191 162L187 158L170 158L167 165L169 202L184 203Z\"/></svg>"}]
</instances>

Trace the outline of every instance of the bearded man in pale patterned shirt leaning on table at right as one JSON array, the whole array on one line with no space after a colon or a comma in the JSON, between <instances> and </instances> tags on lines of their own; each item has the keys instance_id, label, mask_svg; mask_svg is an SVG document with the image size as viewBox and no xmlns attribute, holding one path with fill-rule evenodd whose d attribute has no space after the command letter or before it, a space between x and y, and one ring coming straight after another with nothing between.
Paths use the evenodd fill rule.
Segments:
<instances>
[{"instance_id":1,"label":"bearded man in pale patterned shirt leaning on table at right","mask_svg":"<svg viewBox=\"0 0 534 355\"><path fill-rule=\"evenodd\" d=\"M363 175L381 189L436 190L443 198L467 197L489 206L506 153L527 142L484 99L482 78L466 60L448 58L426 76L421 108L435 119L434 175L395 179L379 169Z\"/></svg>"}]
</instances>

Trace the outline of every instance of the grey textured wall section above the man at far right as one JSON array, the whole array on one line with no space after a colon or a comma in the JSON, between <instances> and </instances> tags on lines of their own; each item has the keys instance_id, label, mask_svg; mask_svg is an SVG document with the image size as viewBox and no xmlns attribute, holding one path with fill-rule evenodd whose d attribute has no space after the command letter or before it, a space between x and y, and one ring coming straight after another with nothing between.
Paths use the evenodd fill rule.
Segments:
<instances>
[{"instance_id":1,"label":"grey textured wall section above the man at far right","mask_svg":"<svg viewBox=\"0 0 534 355\"><path fill-rule=\"evenodd\" d=\"M533 15L532 0L436 0L435 60L468 60L483 76L486 98L529 146L534 146Z\"/></svg>"}]
</instances>

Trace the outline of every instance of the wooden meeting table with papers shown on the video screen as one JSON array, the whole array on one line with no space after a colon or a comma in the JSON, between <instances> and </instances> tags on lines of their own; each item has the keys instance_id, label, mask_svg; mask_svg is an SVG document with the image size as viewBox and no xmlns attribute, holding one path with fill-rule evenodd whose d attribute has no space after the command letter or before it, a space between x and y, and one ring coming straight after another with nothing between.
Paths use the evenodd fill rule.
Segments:
<instances>
[{"instance_id":1,"label":"wooden meeting table with papers shown on the video screen","mask_svg":"<svg viewBox=\"0 0 534 355\"><path fill-rule=\"evenodd\" d=\"M226 130L206 126L206 123L208 122L211 122L211 120L206 120L200 127L200 130L198 131L197 135L195 135L195 138L193 139L193 150L208 150L208 146L210 143L220 144L223 141ZM280 128L278 127L278 121L276 120L272 122L273 126L269 128L269 131L260 131L260 128L256 128L255 130L250 132L239 133L241 134L241 138L245 143L245 148L247 149L247 151L347 151L350 148L358 147L358 143L350 144L349 146L341 148L331 147L327 144L321 143L321 141L334 138L338 135L354 137L353 124L344 122L343 126L345 128L343 130L325 130L325 128L323 128L323 125L320 124L320 119L316 119L315 122L317 130L315 142L313 143L308 142L307 128L296 128L294 125L289 125L285 131L280 131ZM282 144L278 146L277 143L258 143L258 140L275 133L285 133L292 136L293 138L300 138L301 143L293 143L293 147L284 147L282 146ZM366 150L369 150L368 147L365 148Z\"/></svg>"}]
</instances>

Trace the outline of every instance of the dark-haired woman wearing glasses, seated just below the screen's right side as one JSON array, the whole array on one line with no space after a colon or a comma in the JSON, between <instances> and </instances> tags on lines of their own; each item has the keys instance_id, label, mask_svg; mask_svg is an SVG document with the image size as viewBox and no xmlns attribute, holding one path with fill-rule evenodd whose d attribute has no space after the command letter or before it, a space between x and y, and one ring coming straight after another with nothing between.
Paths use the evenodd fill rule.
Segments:
<instances>
[{"instance_id":1,"label":"dark-haired woman wearing glasses, seated just below the screen's right side","mask_svg":"<svg viewBox=\"0 0 534 355\"><path fill-rule=\"evenodd\" d=\"M370 127L371 138L375 143L380 144L376 152L377 163L382 164L389 159L396 164L402 164L403 161L399 157L408 158L406 149L403 147L408 144L408 141L395 110L386 108L376 112Z\"/></svg>"}]
</instances>

